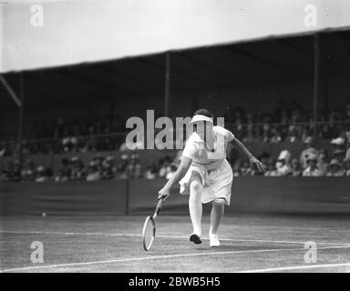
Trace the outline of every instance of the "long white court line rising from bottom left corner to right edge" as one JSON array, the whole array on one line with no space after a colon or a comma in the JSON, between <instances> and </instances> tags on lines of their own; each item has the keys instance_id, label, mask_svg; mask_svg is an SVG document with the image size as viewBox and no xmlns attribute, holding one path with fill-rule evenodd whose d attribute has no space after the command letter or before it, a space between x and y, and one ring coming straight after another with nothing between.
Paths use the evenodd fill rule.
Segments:
<instances>
[{"instance_id":1,"label":"long white court line rising from bottom left corner to right edge","mask_svg":"<svg viewBox=\"0 0 350 291\"><path fill-rule=\"evenodd\" d=\"M350 246L324 246L318 249L335 249L335 248L349 248ZM217 255L232 255L232 254L244 254L244 253L272 253L272 252L285 252L285 251L297 251L303 250L304 248L277 248L277 249L261 249L261 250L246 250L246 251L227 251L227 252L208 252L208 253L194 253L194 254L179 254L179 255L166 255L166 256L141 256L141 257L130 257L115 260L106 261L93 261L93 262L82 262L82 263L67 263L67 264L57 264L57 265L47 265L47 266L25 266L18 268L10 268L0 270L0 273L6 272L18 272L18 271L29 271L36 269L49 269L57 267L67 267L67 266L91 266L91 265L103 265L103 264L114 264L121 262L132 262L132 261L145 261L153 259L163 259L163 258L174 258L174 257L185 257L185 256L217 256Z\"/></svg>"}]
</instances>

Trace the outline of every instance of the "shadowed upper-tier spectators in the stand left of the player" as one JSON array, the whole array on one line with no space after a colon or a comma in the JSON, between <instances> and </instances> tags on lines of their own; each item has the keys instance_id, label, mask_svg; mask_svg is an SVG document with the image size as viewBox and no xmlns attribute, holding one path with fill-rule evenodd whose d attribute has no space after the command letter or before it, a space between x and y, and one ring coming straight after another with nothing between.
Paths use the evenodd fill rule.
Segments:
<instances>
[{"instance_id":1,"label":"shadowed upper-tier spectators in the stand left of the player","mask_svg":"<svg viewBox=\"0 0 350 291\"><path fill-rule=\"evenodd\" d=\"M13 156L19 151L16 136L0 141L0 157ZM117 150L125 140L125 121L120 115L104 118L82 115L72 119L58 118L55 122L35 122L24 136L25 154L86 153Z\"/></svg>"}]
</instances>

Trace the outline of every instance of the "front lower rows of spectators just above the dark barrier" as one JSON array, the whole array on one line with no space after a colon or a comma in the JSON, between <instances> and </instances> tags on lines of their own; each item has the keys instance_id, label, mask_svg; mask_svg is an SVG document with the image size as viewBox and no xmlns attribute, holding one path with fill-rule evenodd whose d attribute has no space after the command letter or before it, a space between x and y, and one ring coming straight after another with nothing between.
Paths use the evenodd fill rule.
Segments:
<instances>
[{"instance_id":1,"label":"front lower rows of spectators just above the dark barrier","mask_svg":"<svg viewBox=\"0 0 350 291\"><path fill-rule=\"evenodd\" d=\"M333 151L328 153L322 148L314 146L314 139L307 136L304 150L300 156L292 156L288 149L284 149L277 158L262 153L258 158L268 167L265 173L257 171L248 159L241 156L230 159L233 176L350 176L350 148L346 147L345 138L337 137L331 141ZM49 167L35 165L27 159L21 169L19 161L7 162L3 166L0 181L18 182L47 180L56 182L67 181L99 181L110 179L154 179L163 177L169 179L180 165L181 151L175 158L164 156L157 162L141 165L137 152L122 153L115 156L101 156L97 154L87 164L79 158L62 158L57 171Z\"/></svg>"}]
</instances>

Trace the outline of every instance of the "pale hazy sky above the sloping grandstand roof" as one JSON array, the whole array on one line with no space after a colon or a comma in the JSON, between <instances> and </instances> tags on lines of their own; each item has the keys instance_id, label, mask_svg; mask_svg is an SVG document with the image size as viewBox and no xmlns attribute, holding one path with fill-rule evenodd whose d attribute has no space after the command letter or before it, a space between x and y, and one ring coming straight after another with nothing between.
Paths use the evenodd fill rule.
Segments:
<instances>
[{"instance_id":1,"label":"pale hazy sky above the sloping grandstand roof","mask_svg":"<svg viewBox=\"0 0 350 291\"><path fill-rule=\"evenodd\" d=\"M0 72L350 26L350 0L6 2ZM31 23L34 4L43 26ZM305 5L316 8L315 26L305 25Z\"/></svg>"}]
</instances>

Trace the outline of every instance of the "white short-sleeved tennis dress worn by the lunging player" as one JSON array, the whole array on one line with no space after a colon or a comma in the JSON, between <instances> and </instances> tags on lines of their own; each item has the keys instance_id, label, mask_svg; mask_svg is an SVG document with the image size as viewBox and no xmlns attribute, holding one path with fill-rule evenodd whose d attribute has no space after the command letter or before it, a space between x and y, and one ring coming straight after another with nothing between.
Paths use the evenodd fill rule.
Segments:
<instances>
[{"instance_id":1,"label":"white short-sleeved tennis dress worn by the lunging player","mask_svg":"<svg viewBox=\"0 0 350 291\"><path fill-rule=\"evenodd\" d=\"M190 135L182 156L192 159L186 175L180 180L180 194L190 194L190 176L193 171L201 175L203 190L201 203L209 203L216 198L224 198L226 205L230 205L232 187L232 168L226 160L227 144L234 139L234 135L222 126L213 126L214 152L204 147L204 141L196 132Z\"/></svg>"}]
</instances>

